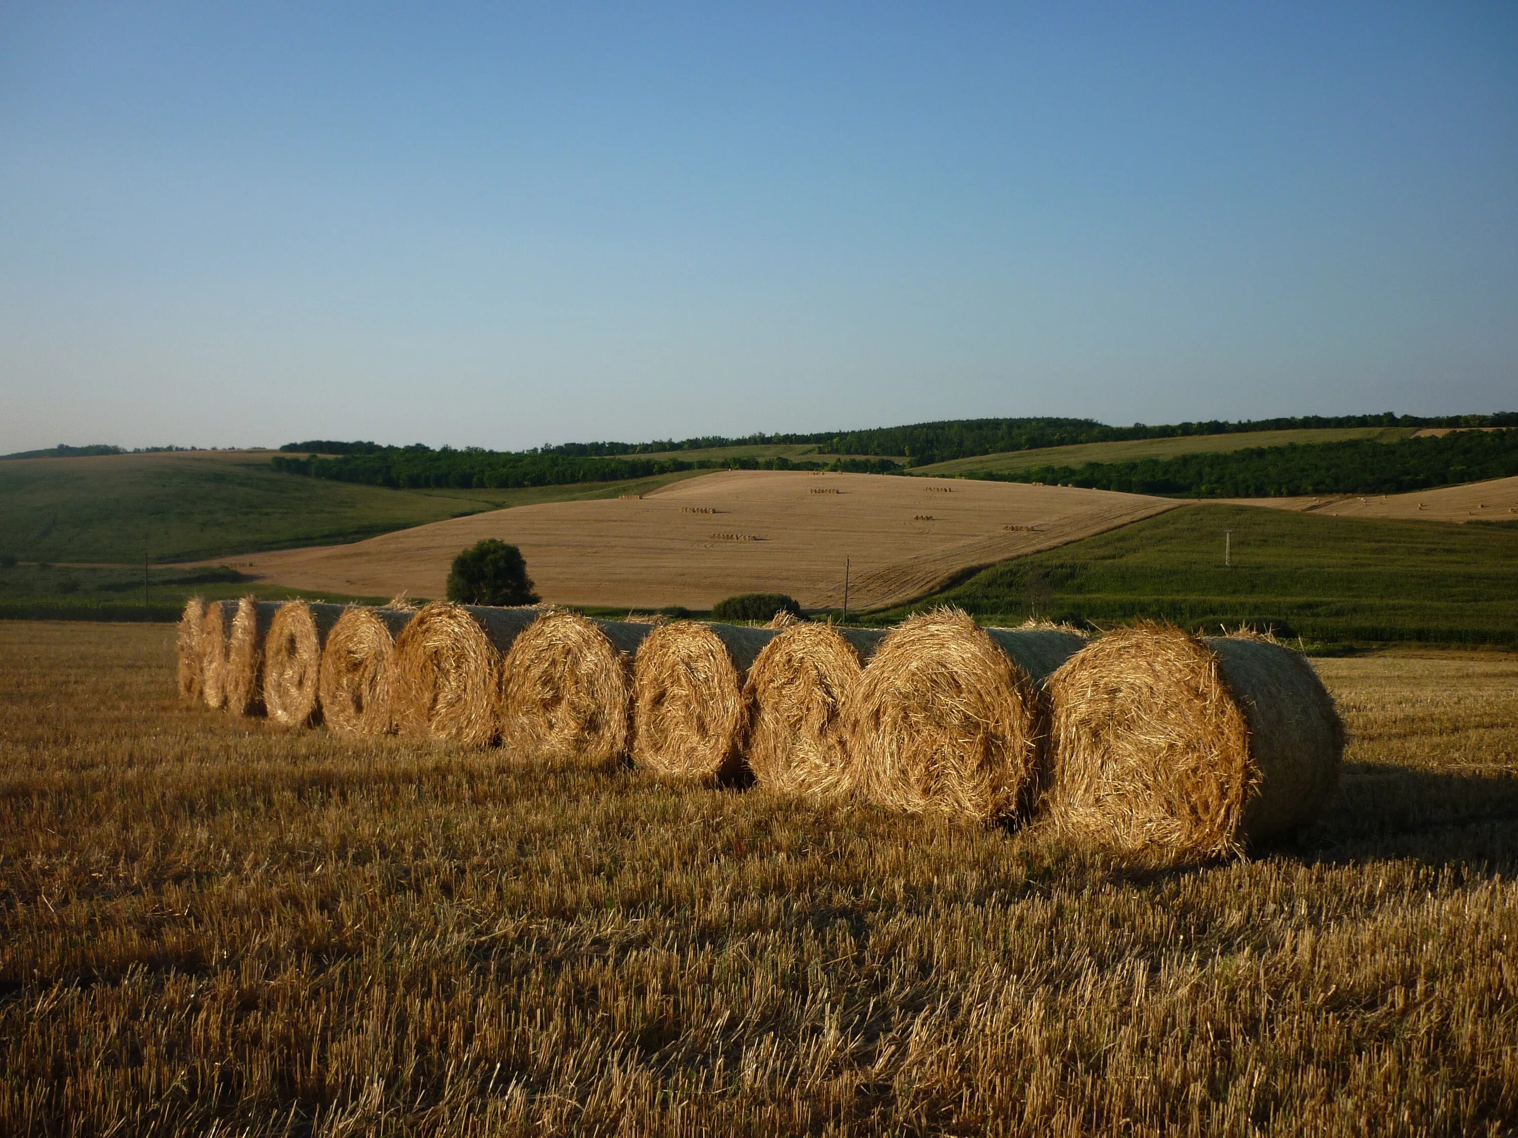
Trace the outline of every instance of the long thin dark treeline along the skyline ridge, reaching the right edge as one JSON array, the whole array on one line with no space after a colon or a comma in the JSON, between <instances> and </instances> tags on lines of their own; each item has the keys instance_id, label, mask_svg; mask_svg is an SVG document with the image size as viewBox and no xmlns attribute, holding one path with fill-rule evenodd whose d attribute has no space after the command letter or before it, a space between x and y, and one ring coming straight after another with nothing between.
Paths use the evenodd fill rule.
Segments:
<instances>
[{"instance_id":1,"label":"long thin dark treeline along the skyline ridge, reaching the right edge","mask_svg":"<svg viewBox=\"0 0 1518 1138\"><path fill-rule=\"evenodd\" d=\"M616 458L677 451L709 451L718 446L776 446L811 445L826 455L897 455L908 458L909 466L944 463L955 458L976 458L1005 451L1034 451L1044 446L1069 446L1073 443L1111 443L1132 439L1178 439L1186 435L1240 434L1248 431L1292 431L1307 428L1350 426L1518 426L1518 413L1498 414L1343 414L1343 416L1292 416L1283 419L1242 419L1228 422L1208 419L1205 422L1166 423L1149 426L1108 426L1094 419L1022 417L1022 419L950 419L909 426L876 426L862 431L821 431L814 434L751 434L741 439L727 435L701 435L697 439L660 439L650 443L560 443L539 446L522 452L495 452L468 448L472 454L527 454L557 455L562 458ZM335 440L310 440L285 443L285 452L354 455L387 454L392 451L427 452L420 443L392 448L378 443L345 443ZM448 451L449 448L442 448Z\"/></svg>"}]
</instances>

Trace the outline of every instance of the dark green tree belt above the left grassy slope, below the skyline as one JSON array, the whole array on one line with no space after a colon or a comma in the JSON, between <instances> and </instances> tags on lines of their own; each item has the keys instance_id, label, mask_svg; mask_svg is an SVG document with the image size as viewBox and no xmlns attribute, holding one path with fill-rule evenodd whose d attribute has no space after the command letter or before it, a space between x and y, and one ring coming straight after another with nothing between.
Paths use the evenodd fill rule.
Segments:
<instances>
[{"instance_id":1,"label":"dark green tree belt above the left grassy slope, below the skyline","mask_svg":"<svg viewBox=\"0 0 1518 1138\"><path fill-rule=\"evenodd\" d=\"M282 449L282 448L281 448ZM899 469L888 460L846 458L833 463L792 461L777 458L603 458L560 454L515 454L505 451L393 446L354 449L346 454L328 451L322 457L275 455L276 470L328 478L339 483L386 486L395 490L425 489L522 489L530 486L572 486L575 483L618 483L628 478L650 478L682 470L849 470L853 473L888 473Z\"/></svg>"}]
</instances>

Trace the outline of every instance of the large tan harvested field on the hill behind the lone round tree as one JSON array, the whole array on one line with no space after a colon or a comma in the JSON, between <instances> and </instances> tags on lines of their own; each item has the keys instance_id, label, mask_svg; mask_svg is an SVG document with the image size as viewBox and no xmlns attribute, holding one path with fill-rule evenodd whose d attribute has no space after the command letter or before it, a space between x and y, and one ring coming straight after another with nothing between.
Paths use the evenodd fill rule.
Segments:
<instances>
[{"instance_id":1,"label":"large tan harvested field on the hill behind the lone round tree","mask_svg":"<svg viewBox=\"0 0 1518 1138\"><path fill-rule=\"evenodd\" d=\"M914 520L923 513L924 490L937 490L931 530ZM481 537L498 537L522 549L545 601L710 608L735 593L783 592L823 608L842 604L842 561L850 557L850 605L865 608L920 596L968 566L1047 549L1175 505L1009 483L733 470L636 501L498 510L355 545L257 554L246 564L238 558L238 566L299 589L442 596L454 555ZM715 534L704 514L686 513L689 507L716 510L724 530ZM1035 525L1037 531L1028 528ZM753 537L764 540L747 540Z\"/></svg>"}]
</instances>

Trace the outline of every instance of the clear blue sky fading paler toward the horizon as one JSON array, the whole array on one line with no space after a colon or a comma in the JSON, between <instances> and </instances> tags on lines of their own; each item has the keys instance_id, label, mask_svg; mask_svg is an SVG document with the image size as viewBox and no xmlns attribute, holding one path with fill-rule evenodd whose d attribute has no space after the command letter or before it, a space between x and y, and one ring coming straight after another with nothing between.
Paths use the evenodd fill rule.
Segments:
<instances>
[{"instance_id":1,"label":"clear blue sky fading paler toward the horizon","mask_svg":"<svg viewBox=\"0 0 1518 1138\"><path fill-rule=\"evenodd\" d=\"M0 5L0 452L1518 410L1518 5Z\"/></svg>"}]
</instances>

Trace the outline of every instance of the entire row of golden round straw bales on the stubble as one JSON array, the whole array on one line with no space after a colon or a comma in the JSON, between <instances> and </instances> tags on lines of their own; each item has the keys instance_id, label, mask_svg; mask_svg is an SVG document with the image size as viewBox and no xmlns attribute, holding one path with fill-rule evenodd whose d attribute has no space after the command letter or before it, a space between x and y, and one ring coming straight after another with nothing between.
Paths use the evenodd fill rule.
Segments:
<instances>
[{"instance_id":1,"label":"entire row of golden round straw bales on the stubble","mask_svg":"<svg viewBox=\"0 0 1518 1138\"><path fill-rule=\"evenodd\" d=\"M996 822L1167 862L1319 813L1343 728L1312 665L1246 633L1094 640L958 610L890 631L193 599L179 689L287 727L402 733L589 766Z\"/></svg>"}]
</instances>

